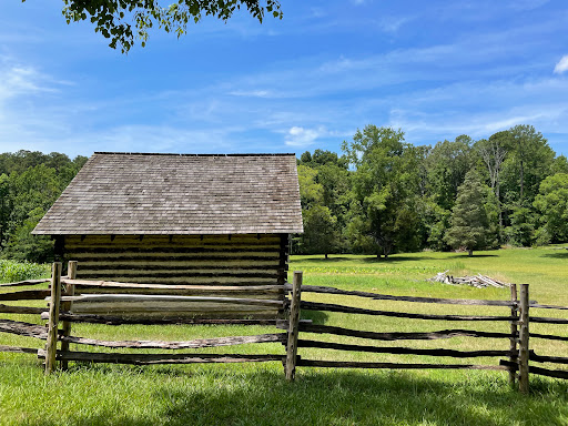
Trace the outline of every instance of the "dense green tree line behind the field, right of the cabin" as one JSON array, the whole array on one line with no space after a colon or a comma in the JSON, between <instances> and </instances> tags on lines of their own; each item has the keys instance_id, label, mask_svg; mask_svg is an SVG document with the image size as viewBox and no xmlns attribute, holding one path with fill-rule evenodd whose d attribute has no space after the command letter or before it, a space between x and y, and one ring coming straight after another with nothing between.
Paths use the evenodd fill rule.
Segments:
<instances>
[{"instance_id":1,"label":"dense green tree line behind the field, right of the cabin","mask_svg":"<svg viewBox=\"0 0 568 426\"><path fill-rule=\"evenodd\" d=\"M568 241L568 161L531 125L434 146L369 124L342 154L298 161L300 254L531 246Z\"/></svg>"}]
</instances>

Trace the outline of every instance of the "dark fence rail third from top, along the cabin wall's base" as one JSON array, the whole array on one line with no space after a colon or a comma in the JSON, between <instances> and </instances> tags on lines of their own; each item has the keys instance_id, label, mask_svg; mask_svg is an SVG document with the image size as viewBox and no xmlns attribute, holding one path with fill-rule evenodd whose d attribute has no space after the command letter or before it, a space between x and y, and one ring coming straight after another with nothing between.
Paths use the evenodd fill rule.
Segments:
<instances>
[{"instance_id":1,"label":"dark fence rail third from top, along the cabin wall's base","mask_svg":"<svg viewBox=\"0 0 568 426\"><path fill-rule=\"evenodd\" d=\"M49 313L41 315L42 320L48 320ZM195 317L170 317L170 318L149 318L148 316L124 318L118 315L95 315L95 314L72 314L60 312L60 321L70 323L89 324L142 324L142 325L164 325L164 324L193 324L193 325L276 325L276 318L195 318Z\"/></svg>"}]
</instances>

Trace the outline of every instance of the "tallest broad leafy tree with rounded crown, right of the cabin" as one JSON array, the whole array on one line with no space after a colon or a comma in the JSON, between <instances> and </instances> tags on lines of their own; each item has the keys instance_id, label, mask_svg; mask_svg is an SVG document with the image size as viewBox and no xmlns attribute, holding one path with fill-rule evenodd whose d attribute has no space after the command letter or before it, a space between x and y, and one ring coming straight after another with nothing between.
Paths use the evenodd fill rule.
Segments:
<instances>
[{"instance_id":1,"label":"tallest broad leafy tree with rounded crown, right of the cabin","mask_svg":"<svg viewBox=\"0 0 568 426\"><path fill-rule=\"evenodd\" d=\"M413 250L419 245L418 189L419 153L404 141L400 130L366 125L357 130L343 150L356 168L352 183L352 210L358 214L358 229L351 232L373 239L377 257L395 248Z\"/></svg>"}]
</instances>

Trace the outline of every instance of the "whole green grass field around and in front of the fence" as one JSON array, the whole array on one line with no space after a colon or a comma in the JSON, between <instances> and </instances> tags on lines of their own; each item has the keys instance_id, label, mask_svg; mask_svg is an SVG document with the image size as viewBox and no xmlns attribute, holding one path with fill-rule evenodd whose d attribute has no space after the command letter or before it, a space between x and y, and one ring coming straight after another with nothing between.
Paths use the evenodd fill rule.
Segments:
<instances>
[{"instance_id":1,"label":"whole green grass field around and in front of the fence","mask_svg":"<svg viewBox=\"0 0 568 426\"><path fill-rule=\"evenodd\" d=\"M293 256L304 284L394 295L507 300L508 290L427 282L437 272L481 273L529 283L530 298L568 306L568 251L559 247L373 256ZM79 266L80 267L80 266ZM507 315L503 307L371 301L304 293L303 300L416 313ZM41 305L42 302L37 304ZM21 303L21 304L30 304ZM566 311L539 310L539 316ZM469 328L508 332L508 323L432 322L307 312L314 323L377 332ZM37 316L4 315L37 322ZM273 333L260 326L74 325L73 334L105 339L187 341L199 337ZM566 325L531 324L538 333L568 336ZM445 347L460 351L508 348L508 341L459 337L438 341L372 342L302 334L302 338L373 346ZM0 345L41 347L42 342L0 334ZM542 355L568 355L568 344L532 339ZM72 345L73 351L99 351ZM102 351L102 349L101 349ZM104 351L109 352L109 349ZM125 351L128 352L128 351ZM148 353L158 351L144 351ZM202 352L283 354L280 344L243 345ZM301 348L308 359L496 365L497 358L454 359ZM548 367L552 367L548 365ZM555 368L558 368L556 366ZM298 368L284 379L278 363L181 366L73 364L44 377L33 355L0 353L0 424L7 425L568 425L568 381L531 376L531 394L519 395L504 372L357 371Z\"/></svg>"}]
</instances>

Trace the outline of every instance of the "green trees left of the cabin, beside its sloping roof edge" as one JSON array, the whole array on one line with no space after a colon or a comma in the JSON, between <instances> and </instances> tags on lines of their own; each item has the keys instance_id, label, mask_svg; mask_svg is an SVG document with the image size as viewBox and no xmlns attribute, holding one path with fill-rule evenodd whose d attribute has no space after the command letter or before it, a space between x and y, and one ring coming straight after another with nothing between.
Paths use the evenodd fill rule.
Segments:
<instances>
[{"instance_id":1,"label":"green trees left of the cabin, beside its sloping roof edge","mask_svg":"<svg viewBox=\"0 0 568 426\"><path fill-rule=\"evenodd\" d=\"M32 236L51 204L85 163L85 156L18 151L0 154L0 245L2 257L47 262L53 242Z\"/></svg>"}]
</instances>

